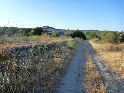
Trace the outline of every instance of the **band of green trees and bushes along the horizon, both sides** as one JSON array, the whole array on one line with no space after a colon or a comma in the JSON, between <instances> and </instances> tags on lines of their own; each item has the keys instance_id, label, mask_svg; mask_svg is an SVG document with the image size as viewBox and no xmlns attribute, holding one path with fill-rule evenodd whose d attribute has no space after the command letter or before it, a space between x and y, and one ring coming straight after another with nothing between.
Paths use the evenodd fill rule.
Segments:
<instances>
[{"instance_id":1,"label":"band of green trees and bushes along the horizon, both sides","mask_svg":"<svg viewBox=\"0 0 124 93\"><path fill-rule=\"evenodd\" d=\"M0 27L0 30L3 31L2 34L9 34L10 36L15 33L21 33L25 36L30 35L41 35L46 33L43 31L42 27L36 28L16 28L16 27ZM56 33L52 34L56 36ZM82 38L84 40L93 40L94 42L108 42L108 43L120 43L124 42L124 32L115 32L115 31L82 31L82 30L69 30L67 36L72 38Z\"/></svg>"}]
</instances>

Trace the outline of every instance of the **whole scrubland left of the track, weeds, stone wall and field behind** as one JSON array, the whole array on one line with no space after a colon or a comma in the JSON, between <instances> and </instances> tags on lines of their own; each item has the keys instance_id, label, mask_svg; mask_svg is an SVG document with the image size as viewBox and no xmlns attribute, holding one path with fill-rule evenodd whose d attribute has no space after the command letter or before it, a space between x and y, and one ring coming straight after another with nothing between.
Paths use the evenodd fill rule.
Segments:
<instances>
[{"instance_id":1,"label":"whole scrubland left of the track, weeds, stone wall and field behind","mask_svg":"<svg viewBox=\"0 0 124 93\"><path fill-rule=\"evenodd\" d=\"M2 36L0 92L52 93L63 77L80 40L70 37Z\"/></svg>"}]
</instances>

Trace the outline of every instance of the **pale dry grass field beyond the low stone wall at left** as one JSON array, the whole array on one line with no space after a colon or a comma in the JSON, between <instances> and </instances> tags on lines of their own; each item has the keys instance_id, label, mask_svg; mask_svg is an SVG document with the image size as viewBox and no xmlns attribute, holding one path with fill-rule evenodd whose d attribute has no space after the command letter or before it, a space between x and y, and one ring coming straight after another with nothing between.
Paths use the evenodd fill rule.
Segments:
<instances>
[{"instance_id":1,"label":"pale dry grass field beyond the low stone wall at left","mask_svg":"<svg viewBox=\"0 0 124 93\"><path fill-rule=\"evenodd\" d=\"M41 36L23 36L15 35L13 37L8 37L6 35L0 37L0 48L3 47L17 47L17 46L27 46L38 43L50 43L58 41L72 40L70 37L50 37L48 34L43 34Z\"/></svg>"}]
</instances>

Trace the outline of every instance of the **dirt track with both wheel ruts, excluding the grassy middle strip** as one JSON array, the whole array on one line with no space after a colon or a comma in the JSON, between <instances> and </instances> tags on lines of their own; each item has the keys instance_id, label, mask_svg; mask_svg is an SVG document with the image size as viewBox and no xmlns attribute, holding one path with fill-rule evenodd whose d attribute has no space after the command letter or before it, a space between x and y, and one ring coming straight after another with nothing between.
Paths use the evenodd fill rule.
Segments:
<instances>
[{"instance_id":1,"label":"dirt track with both wheel ruts, excluding the grassy middle strip","mask_svg":"<svg viewBox=\"0 0 124 93\"><path fill-rule=\"evenodd\" d=\"M73 56L68 71L62 79L59 93L94 93L87 91L85 86L88 81L83 79L83 77L87 75L87 51L89 51L92 63L100 75L100 81L102 81L106 87L105 93L124 93L124 80L121 78L118 80L117 78L119 78L119 75L106 68L100 55L92 48L88 41L82 41L77 52Z\"/></svg>"}]
</instances>

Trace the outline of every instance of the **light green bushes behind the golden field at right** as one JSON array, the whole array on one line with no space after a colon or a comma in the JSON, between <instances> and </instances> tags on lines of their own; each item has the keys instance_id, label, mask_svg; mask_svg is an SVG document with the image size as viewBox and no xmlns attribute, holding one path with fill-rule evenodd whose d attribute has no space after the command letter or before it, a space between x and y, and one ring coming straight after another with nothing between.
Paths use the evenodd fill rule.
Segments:
<instances>
[{"instance_id":1,"label":"light green bushes behind the golden field at right","mask_svg":"<svg viewBox=\"0 0 124 93\"><path fill-rule=\"evenodd\" d=\"M96 32L90 33L87 36L88 39L94 42L101 43L121 43L124 42L124 33L122 32L114 32L114 31L104 31L104 32Z\"/></svg>"}]
</instances>

